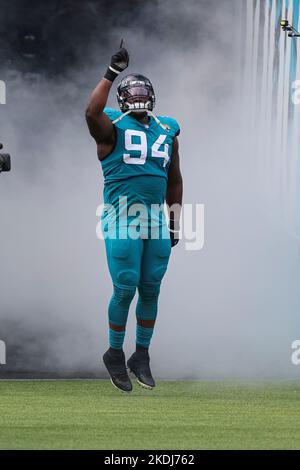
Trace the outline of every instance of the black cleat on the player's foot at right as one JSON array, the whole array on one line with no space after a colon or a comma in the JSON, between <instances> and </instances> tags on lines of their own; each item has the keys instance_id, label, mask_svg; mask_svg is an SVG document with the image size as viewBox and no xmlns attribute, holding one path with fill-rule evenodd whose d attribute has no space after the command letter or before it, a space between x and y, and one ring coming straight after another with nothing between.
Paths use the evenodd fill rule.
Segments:
<instances>
[{"instance_id":1,"label":"black cleat on the player's foot at right","mask_svg":"<svg viewBox=\"0 0 300 470\"><path fill-rule=\"evenodd\" d=\"M127 367L136 376L139 385L149 390L155 387L148 349L137 346L136 352L127 361Z\"/></svg>"}]
</instances>

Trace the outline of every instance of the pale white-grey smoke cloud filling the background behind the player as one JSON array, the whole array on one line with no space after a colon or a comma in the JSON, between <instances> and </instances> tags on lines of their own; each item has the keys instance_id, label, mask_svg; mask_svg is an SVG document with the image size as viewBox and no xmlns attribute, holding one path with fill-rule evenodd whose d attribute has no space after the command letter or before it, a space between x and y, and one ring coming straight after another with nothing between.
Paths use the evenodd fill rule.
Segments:
<instances>
[{"instance_id":1,"label":"pale white-grey smoke cloud filling the background behind the player","mask_svg":"<svg viewBox=\"0 0 300 470\"><path fill-rule=\"evenodd\" d=\"M0 338L8 366L103 373L111 281L95 234L102 177L84 108L123 36L129 72L149 76L156 112L181 124L184 200L206 208L204 249L176 247L163 281L151 348L155 375L297 374L290 355L299 331L299 247L268 216L253 148L242 133L238 7L239 0L164 1L154 14L145 6L142 21L112 29L100 61L95 43L92 66L83 64L70 80L42 83L38 95L23 84L23 97L11 97L1 134L13 171L0 184ZM117 105L114 92L110 105ZM127 353L134 330L133 305ZM15 353L13 364L10 344L26 353Z\"/></svg>"}]
</instances>

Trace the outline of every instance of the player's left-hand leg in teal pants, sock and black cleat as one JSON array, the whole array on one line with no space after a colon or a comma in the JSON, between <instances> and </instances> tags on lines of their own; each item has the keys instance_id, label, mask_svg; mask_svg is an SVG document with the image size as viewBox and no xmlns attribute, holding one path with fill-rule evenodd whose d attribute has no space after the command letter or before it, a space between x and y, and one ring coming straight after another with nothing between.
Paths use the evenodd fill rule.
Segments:
<instances>
[{"instance_id":1,"label":"player's left-hand leg in teal pants, sock and black cleat","mask_svg":"<svg viewBox=\"0 0 300 470\"><path fill-rule=\"evenodd\" d=\"M110 348L103 356L104 364L113 385L123 391L131 391L123 352L123 342L129 307L140 279L142 240L106 239L107 262L113 281L109 317Z\"/></svg>"}]
</instances>

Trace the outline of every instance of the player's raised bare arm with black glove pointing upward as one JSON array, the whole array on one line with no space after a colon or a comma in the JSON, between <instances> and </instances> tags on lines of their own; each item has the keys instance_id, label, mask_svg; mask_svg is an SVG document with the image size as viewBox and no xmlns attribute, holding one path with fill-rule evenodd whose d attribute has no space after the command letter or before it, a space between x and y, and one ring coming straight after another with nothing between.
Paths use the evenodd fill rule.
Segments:
<instances>
[{"instance_id":1,"label":"player's raised bare arm with black glove pointing upward","mask_svg":"<svg viewBox=\"0 0 300 470\"><path fill-rule=\"evenodd\" d=\"M104 78L100 80L90 97L85 116L90 134L97 144L114 143L114 126L103 110L106 106L113 81L120 72L128 67L128 63L128 52L122 48L112 56L110 66Z\"/></svg>"}]
</instances>

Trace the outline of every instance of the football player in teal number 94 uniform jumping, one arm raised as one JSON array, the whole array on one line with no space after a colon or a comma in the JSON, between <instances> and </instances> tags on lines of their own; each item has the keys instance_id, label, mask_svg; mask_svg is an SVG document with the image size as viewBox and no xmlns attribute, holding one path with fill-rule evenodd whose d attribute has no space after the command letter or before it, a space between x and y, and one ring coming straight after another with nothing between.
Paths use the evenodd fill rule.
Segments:
<instances>
[{"instance_id":1,"label":"football player in teal number 94 uniform jumping, one arm raised","mask_svg":"<svg viewBox=\"0 0 300 470\"><path fill-rule=\"evenodd\" d=\"M136 290L136 350L128 359L127 367L140 385L148 389L155 387L149 346L161 281L167 270L171 247L179 239L183 191L177 139L179 125L170 117L154 115L155 93L150 80L140 74L124 77L117 90L120 110L106 107L112 84L128 63L128 52L121 47L112 56L86 109L86 121L96 141L104 175L102 228L113 283L108 307L109 349L103 361L112 384L125 392L132 390L132 383L126 368L123 342L128 311ZM136 232L138 236L129 233L129 226L134 226L136 220L133 215L125 218L125 222L121 220L122 197L126 197L127 208L136 204L146 208L144 223L139 222L140 231ZM151 209L161 208L164 202L168 208L177 208L169 209L168 226L163 211ZM130 214L129 210L127 214ZM153 228L155 236L152 236Z\"/></svg>"}]
</instances>

